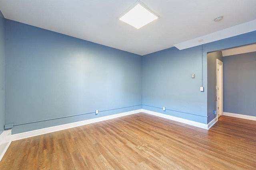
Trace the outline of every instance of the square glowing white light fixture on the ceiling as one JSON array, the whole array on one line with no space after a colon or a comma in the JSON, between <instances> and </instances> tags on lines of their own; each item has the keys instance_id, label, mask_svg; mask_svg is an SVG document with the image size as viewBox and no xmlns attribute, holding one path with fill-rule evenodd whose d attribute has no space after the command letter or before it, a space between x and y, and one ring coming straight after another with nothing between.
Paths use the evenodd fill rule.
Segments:
<instances>
[{"instance_id":1,"label":"square glowing white light fixture on the ceiling","mask_svg":"<svg viewBox=\"0 0 256 170\"><path fill-rule=\"evenodd\" d=\"M150 11L144 4L138 2L131 10L124 13L119 20L139 29L157 18L156 14Z\"/></svg>"}]
</instances>

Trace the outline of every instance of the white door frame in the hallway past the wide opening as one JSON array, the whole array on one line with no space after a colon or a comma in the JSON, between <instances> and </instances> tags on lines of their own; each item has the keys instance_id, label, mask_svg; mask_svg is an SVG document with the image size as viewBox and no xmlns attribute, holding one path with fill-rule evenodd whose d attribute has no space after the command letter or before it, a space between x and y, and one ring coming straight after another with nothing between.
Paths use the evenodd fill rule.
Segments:
<instances>
[{"instance_id":1,"label":"white door frame in the hallway past the wide opening","mask_svg":"<svg viewBox=\"0 0 256 170\"><path fill-rule=\"evenodd\" d=\"M218 68L220 68L218 72ZM219 82L220 81L220 82ZM220 86L218 86L220 83ZM218 88L220 90L220 95L218 96ZM223 62L219 59L216 59L216 115L218 119L218 115L223 115ZM220 100L220 106L218 106L218 101ZM220 113L218 113L218 107L220 107Z\"/></svg>"}]
</instances>

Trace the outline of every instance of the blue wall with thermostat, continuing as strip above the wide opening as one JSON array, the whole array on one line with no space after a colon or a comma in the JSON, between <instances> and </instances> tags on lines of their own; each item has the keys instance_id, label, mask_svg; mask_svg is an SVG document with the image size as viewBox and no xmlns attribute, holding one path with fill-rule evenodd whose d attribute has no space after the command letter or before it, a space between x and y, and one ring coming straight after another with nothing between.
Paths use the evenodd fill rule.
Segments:
<instances>
[{"instance_id":1,"label":"blue wall with thermostat, continuing as strip above the wide opening","mask_svg":"<svg viewBox=\"0 0 256 170\"><path fill-rule=\"evenodd\" d=\"M173 47L143 56L142 108L209 123L216 116L212 96L216 83L208 81L212 77L208 76L207 54L252 43L256 43L256 31L181 51ZM194 79L191 74L195 74ZM204 86L204 92L200 92L200 86Z\"/></svg>"}]
</instances>

